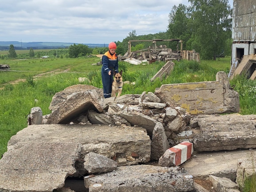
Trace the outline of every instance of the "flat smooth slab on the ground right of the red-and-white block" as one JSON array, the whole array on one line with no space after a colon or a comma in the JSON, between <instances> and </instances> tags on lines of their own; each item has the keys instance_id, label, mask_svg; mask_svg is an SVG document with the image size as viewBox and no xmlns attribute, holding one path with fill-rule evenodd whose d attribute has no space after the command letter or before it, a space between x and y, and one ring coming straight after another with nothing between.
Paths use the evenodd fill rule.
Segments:
<instances>
[{"instance_id":1,"label":"flat smooth slab on the ground right of the red-and-white block","mask_svg":"<svg viewBox=\"0 0 256 192\"><path fill-rule=\"evenodd\" d=\"M256 151L254 153L256 155ZM183 163L182 167L196 179L205 180L208 179L209 175L214 175L234 180L236 178L238 159L250 154L251 151L248 149L214 152L194 151L190 161Z\"/></svg>"}]
</instances>

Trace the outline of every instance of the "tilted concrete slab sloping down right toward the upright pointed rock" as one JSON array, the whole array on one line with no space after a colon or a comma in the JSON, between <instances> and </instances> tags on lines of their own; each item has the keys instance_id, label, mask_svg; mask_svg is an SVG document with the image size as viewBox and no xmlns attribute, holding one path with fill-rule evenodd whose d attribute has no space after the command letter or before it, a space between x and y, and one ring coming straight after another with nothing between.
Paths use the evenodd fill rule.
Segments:
<instances>
[{"instance_id":1,"label":"tilted concrete slab sloping down right toward the upright pointed rock","mask_svg":"<svg viewBox=\"0 0 256 192\"><path fill-rule=\"evenodd\" d=\"M121 111L116 113L116 116L123 117L126 121L128 121L132 126L139 125L143 126L148 132L149 136L152 136L154 127L156 126L157 121L155 119L150 118L142 113L138 112L126 112Z\"/></svg>"}]
</instances>

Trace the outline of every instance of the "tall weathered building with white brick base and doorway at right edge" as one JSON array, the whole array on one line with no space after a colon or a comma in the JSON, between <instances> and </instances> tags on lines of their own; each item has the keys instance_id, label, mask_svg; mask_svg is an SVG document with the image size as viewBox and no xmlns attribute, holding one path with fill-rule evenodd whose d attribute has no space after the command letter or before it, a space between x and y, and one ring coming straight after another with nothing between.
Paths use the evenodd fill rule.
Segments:
<instances>
[{"instance_id":1,"label":"tall weathered building with white brick base and doorway at right edge","mask_svg":"<svg viewBox=\"0 0 256 192\"><path fill-rule=\"evenodd\" d=\"M232 58L255 53L256 0L234 0L232 18ZM253 45L251 45L253 44Z\"/></svg>"}]
</instances>

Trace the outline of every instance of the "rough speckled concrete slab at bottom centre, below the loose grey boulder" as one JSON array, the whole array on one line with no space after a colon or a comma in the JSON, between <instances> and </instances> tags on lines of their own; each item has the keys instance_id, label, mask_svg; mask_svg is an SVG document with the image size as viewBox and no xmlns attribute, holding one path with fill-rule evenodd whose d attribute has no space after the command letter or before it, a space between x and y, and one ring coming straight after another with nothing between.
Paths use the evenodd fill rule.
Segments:
<instances>
[{"instance_id":1,"label":"rough speckled concrete slab at bottom centre, below the loose grey boulder","mask_svg":"<svg viewBox=\"0 0 256 192\"><path fill-rule=\"evenodd\" d=\"M182 167L158 167L152 165L120 166L115 172L102 173L90 180L84 179L90 192L118 191L191 191L194 180L185 179Z\"/></svg>"}]
</instances>

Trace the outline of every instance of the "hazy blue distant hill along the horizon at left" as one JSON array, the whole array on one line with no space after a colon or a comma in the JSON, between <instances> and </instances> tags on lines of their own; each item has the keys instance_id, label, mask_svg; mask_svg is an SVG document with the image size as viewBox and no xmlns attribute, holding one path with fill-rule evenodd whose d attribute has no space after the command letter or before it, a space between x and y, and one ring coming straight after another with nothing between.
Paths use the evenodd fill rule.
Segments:
<instances>
[{"instance_id":1,"label":"hazy blue distant hill along the horizon at left","mask_svg":"<svg viewBox=\"0 0 256 192\"><path fill-rule=\"evenodd\" d=\"M0 41L0 50L9 49L9 46L13 44L15 49L56 49L56 48L68 48L68 46L78 43L60 43L60 42L19 42L19 41ZM90 48L105 47L105 44L84 44Z\"/></svg>"}]
</instances>

